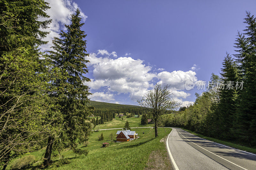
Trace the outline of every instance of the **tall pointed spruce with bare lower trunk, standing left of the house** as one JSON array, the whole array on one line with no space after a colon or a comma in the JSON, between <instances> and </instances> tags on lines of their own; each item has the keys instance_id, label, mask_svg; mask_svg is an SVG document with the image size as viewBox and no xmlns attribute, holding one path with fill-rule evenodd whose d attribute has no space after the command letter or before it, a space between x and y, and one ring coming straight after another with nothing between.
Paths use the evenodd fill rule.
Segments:
<instances>
[{"instance_id":1,"label":"tall pointed spruce with bare lower trunk, standing left of the house","mask_svg":"<svg viewBox=\"0 0 256 170\"><path fill-rule=\"evenodd\" d=\"M88 73L85 58L86 34L81 30L80 11L71 14L71 24L65 25L67 31L60 31L60 38L54 37L53 50L48 51L54 67L60 68L62 79L53 81L58 90L52 94L55 97L60 127L57 134L49 137L44 155L44 165L51 163L52 148L71 148L76 151L76 140L78 143L87 141L91 133L88 115L90 107L88 96L89 88L84 81L90 81L84 74ZM57 137L58 136L58 137Z\"/></svg>"}]
</instances>

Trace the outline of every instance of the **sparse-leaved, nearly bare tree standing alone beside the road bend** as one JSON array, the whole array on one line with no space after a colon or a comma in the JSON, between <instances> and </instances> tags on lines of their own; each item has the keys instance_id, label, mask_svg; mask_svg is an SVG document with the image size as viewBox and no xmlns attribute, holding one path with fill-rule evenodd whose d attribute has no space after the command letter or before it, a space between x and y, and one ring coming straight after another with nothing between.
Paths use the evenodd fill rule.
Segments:
<instances>
[{"instance_id":1,"label":"sparse-leaved, nearly bare tree standing alone beside the road bend","mask_svg":"<svg viewBox=\"0 0 256 170\"><path fill-rule=\"evenodd\" d=\"M154 89L148 91L141 100L138 100L140 106L145 107L153 116L155 121L155 137L158 136L157 126L161 115L170 112L179 107L179 103L172 98L172 90L168 90L170 85L163 88L157 83Z\"/></svg>"}]
</instances>

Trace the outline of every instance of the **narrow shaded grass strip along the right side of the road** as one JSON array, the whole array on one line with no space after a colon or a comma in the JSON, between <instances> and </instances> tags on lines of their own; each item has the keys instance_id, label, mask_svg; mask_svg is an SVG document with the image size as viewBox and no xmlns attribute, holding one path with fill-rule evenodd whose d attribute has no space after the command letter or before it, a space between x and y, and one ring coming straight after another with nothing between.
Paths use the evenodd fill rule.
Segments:
<instances>
[{"instance_id":1,"label":"narrow shaded grass strip along the right side of the road","mask_svg":"<svg viewBox=\"0 0 256 170\"><path fill-rule=\"evenodd\" d=\"M212 141L212 142L215 142L215 143L220 143L220 144L229 146L231 148L239 149L239 150L242 150L242 151L256 153L256 149L255 148L249 148L249 147L246 147L246 146L243 146L243 145L239 145L239 144L235 144L235 143L230 143L230 142L227 142L227 141L222 141L222 140L215 139L215 138L212 138L212 137L207 137L207 136L204 136L204 135L200 135L200 134L198 134L196 132L193 132L193 131L190 131L190 130L187 130L187 129L184 129L184 128L182 128L182 129L186 130L187 132L189 132L189 133L191 133L193 135L196 135L198 137L206 139L208 141Z\"/></svg>"}]
</instances>

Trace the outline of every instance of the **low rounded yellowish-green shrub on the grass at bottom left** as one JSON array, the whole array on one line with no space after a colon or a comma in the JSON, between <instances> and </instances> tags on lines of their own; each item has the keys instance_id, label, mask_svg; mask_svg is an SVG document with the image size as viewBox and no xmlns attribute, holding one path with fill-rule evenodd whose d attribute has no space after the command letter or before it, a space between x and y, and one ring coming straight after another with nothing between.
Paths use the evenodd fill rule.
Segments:
<instances>
[{"instance_id":1,"label":"low rounded yellowish-green shrub on the grass at bottom left","mask_svg":"<svg viewBox=\"0 0 256 170\"><path fill-rule=\"evenodd\" d=\"M22 158L16 159L13 162L12 169L22 169L32 165L36 161L36 157L33 155L26 155Z\"/></svg>"}]
</instances>

